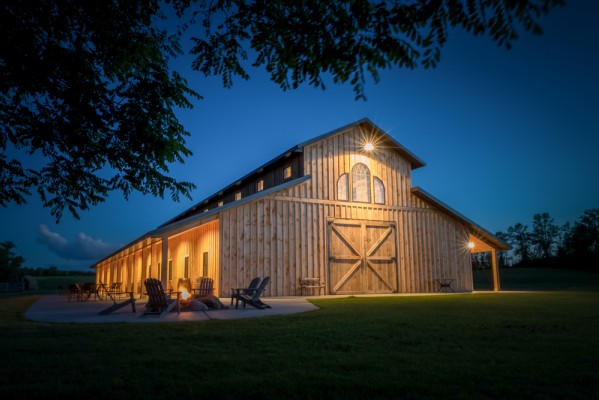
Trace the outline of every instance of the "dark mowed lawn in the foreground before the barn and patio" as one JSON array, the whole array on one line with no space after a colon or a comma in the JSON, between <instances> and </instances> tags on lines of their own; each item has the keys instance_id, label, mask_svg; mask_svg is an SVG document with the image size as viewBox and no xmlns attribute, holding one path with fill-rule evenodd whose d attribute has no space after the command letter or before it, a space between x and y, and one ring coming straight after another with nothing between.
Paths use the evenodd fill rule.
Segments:
<instances>
[{"instance_id":1,"label":"dark mowed lawn in the foreground before the barn and patio","mask_svg":"<svg viewBox=\"0 0 599 400\"><path fill-rule=\"evenodd\" d=\"M35 299L0 299L2 399L599 393L599 292L318 299L290 316L94 325L24 321Z\"/></svg>"}]
</instances>

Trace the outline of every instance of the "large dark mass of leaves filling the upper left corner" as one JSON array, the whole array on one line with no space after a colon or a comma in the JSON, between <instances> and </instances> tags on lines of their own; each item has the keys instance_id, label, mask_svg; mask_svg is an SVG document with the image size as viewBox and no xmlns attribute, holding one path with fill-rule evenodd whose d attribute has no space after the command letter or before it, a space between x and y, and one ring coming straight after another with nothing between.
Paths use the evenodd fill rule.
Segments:
<instances>
[{"instance_id":1,"label":"large dark mass of leaves filling the upper left corner","mask_svg":"<svg viewBox=\"0 0 599 400\"><path fill-rule=\"evenodd\" d=\"M175 110L199 96L169 71L181 49L154 26L158 2L0 7L0 204L22 204L36 188L59 221L114 190L189 197L194 185L166 174L191 155ZM25 169L9 144L43 165Z\"/></svg>"}]
</instances>

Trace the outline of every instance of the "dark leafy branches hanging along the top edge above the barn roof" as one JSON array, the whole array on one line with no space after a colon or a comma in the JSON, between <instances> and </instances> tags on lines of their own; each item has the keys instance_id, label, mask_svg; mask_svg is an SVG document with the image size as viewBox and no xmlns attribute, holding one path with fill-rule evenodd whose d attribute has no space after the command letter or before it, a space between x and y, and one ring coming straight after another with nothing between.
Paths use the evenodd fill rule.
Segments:
<instances>
[{"instance_id":1,"label":"dark leafy branches hanging along the top edge above the barn roof","mask_svg":"<svg viewBox=\"0 0 599 400\"><path fill-rule=\"evenodd\" d=\"M175 3L177 3L175 1ZM189 2L179 8L194 5ZM518 28L542 32L538 18L562 0L421 0L415 2L347 0L200 2L203 31L193 31L193 67L220 75L229 87L234 76L248 78L245 46L255 52L254 67L264 67L283 90L307 82L324 88L323 75L349 82L357 99L379 70L399 66L435 67L449 28L487 33L510 48ZM205 6L205 9L202 9ZM213 24L218 20L219 24ZM193 28L191 28L193 29ZM249 42L249 44L247 43Z\"/></svg>"}]
</instances>

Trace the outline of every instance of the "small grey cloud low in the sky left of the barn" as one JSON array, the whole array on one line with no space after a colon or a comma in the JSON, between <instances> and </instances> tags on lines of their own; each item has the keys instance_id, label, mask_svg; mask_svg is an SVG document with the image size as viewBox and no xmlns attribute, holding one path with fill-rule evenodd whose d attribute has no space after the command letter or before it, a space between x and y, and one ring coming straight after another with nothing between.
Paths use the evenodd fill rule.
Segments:
<instances>
[{"instance_id":1,"label":"small grey cloud low in the sky left of the barn","mask_svg":"<svg viewBox=\"0 0 599 400\"><path fill-rule=\"evenodd\" d=\"M66 260L97 260L118 248L117 245L94 239L80 232L69 241L57 232L52 232L46 225L38 228L36 241L45 245L52 253Z\"/></svg>"}]
</instances>

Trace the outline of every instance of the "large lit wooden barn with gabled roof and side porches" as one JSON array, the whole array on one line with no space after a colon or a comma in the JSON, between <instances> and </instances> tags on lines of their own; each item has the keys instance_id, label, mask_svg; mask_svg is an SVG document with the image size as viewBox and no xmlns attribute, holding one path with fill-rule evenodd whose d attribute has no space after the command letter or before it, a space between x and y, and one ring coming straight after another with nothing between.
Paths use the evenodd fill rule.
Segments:
<instances>
[{"instance_id":1,"label":"large lit wooden barn with gabled roof and side porches","mask_svg":"<svg viewBox=\"0 0 599 400\"><path fill-rule=\"evenodd\" d=\"M142 295L147 277L214 279L229 296L270 276L266 296L473 289L470 253L509 247L419 187L418 157L368 119L298 144L98 261L97 280Z\"/></svg>"}]
</instances>

